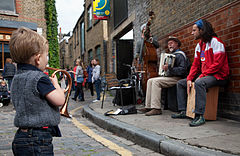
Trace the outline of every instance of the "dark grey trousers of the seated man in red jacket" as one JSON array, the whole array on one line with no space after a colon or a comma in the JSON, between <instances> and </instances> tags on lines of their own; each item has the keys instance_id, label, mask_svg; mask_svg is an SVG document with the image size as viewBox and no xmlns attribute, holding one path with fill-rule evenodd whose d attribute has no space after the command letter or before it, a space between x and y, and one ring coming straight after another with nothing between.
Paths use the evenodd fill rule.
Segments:
<instances>
[{"instance_id":1,"label":"dark grey trousers of the seated man in red jacket","mask_svg":"<svg viewBox=\"0 0 240 156\"><path fill-rule=\"evenodd\" d=\"M203 115L205 112L207 89L213 86L226 85L227 80L217 80L214 76L206 76L195 81L195 113ZM187 79L179 80L177 83L178 110L186 111L187 107Z\"/></svg>"}]
</instances>

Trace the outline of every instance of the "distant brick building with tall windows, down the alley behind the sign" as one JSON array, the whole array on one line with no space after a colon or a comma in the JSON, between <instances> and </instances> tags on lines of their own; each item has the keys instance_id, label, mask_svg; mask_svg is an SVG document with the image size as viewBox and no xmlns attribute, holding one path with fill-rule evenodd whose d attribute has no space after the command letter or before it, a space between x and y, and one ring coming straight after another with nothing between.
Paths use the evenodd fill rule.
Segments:
<instances>
[{"instance_id":1,"label":"distant brick building with tall windows, down the alley behind the sign","mask_svg":"<svg viewBox=\"0 0 240 156\"><path fill-rule=\"evenodd\" d=\"M75 60L78 58L83 60L87 66L90 60L97 58L100 60L101 71L104 73L107 69L107 21L94 20L92 8L92 0L85 0L84 11L68 40L69 54L66 53L64 56L66 60L64 66L73 67ZM66 57L69 57L69 59Z\"/></svg>"}]
</instances>

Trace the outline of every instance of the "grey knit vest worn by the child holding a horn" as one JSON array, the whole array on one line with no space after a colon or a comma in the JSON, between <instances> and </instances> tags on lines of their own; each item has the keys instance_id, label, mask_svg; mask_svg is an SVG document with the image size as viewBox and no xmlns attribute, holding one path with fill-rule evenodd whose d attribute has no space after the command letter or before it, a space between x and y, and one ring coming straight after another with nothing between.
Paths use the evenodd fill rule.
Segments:
<instances>
[{"instance_id":1,"label":"grey knit vest worn by the child holding a horn","mask_svg":"<svg viewBox=\"0 0 240 156\"><path fill-rule=\"evenodd\" d=\"M41 71L18 70L11 86L11 99L16 109L16 127L56 126L60 123L59 108L40 98L37 83L47 77Z\"/></svg>"}]
</instances>

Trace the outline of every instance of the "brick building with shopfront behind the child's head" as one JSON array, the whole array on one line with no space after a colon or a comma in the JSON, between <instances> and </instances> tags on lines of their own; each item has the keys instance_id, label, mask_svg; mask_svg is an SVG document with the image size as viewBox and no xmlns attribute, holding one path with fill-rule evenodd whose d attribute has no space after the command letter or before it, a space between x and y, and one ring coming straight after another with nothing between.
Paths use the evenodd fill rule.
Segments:
<instances>
[{"instance_id":1,"label":"brick building with shopfront behind the child's head","mask_svg":"<svg viewBox=\"0 0 240 156\"><path fill-rule=\"evenodd\" d=\"M17 28L25 26L46 37L45 2L8 0L0 5L0 69L10 57L9 40Z\"/></svg>"}]
</instances>

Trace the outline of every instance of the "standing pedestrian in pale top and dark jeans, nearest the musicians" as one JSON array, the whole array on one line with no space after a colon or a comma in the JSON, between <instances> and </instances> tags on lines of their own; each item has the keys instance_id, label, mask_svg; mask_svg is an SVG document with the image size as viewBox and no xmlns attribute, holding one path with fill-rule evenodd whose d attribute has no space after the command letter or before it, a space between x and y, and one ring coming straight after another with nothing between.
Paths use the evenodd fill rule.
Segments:
<instances>
[{"instance_id":1,"label":"standing pedestrian in pale top and dark jeans, nearest the musicians","mask_svg":"<svg viewBox=\"0 0 240 156\"><path fill-rule=\"evenodd\" d=\"M99 65L98 59L93 59L93 72L92 72L92 83L95 85L97 99L93 102L100 101L100 93L101 93L101 67Z\"/></svg>"}]
</instances>

